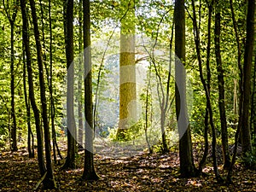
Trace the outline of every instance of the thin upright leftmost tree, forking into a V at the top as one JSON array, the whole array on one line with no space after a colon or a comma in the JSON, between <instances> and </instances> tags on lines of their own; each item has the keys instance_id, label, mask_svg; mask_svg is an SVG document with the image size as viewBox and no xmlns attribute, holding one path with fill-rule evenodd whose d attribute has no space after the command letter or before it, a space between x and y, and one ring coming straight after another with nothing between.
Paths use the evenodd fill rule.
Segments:
<instances>
[{"instance_id":1,"label":"thin upright leftmost tree, forking into a V at the top","mask_svg":"<svg viewBox=\"0 0 256 192\"><path fill-rule=\"evenodd\" d=\"M11 56L10 56L10 89L11 89L11 118L12 118L12 125L11 125L11 150L17 151L17 123L16 123L16 115L15 115L15 20L18 11L18 1L14 1L13 4L4 2L3 0L3 7L5 13L8 17L9 24L10 24L10 43L11 43ZM13 13L11 13L13 10Z\"/></svg>"}]
</instances>

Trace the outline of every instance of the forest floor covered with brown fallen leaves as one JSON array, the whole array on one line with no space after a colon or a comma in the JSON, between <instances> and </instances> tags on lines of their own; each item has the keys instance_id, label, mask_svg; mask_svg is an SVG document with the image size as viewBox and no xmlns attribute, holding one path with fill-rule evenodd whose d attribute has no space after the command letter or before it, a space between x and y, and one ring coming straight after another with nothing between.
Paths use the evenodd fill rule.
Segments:
<instances>
[{"instance_id":1,"label":"forest floor covered with brown fallen leaves","mask_svg":"<svg viewBox=\"0 0 256 192\"><path fill-rule=\"evenodd\" d=\"M113 159L95 155L96 172L100 180L81 182L83 152L77 158L77 169L61 170L55 166L58 189L48 191L256 191L256 172L236 164L233 184L217 183L211 166L205 176L180 178L177 152L169 154L140 154ZM195 159L198 156L195 155ZM219 167L222 175L226 172ZM33 191L40 177L38 161L29 159L26 148L18 152L0 152L0 191ZM38 191L42 189L42 184Z\"/></svg>"}]
</instances>

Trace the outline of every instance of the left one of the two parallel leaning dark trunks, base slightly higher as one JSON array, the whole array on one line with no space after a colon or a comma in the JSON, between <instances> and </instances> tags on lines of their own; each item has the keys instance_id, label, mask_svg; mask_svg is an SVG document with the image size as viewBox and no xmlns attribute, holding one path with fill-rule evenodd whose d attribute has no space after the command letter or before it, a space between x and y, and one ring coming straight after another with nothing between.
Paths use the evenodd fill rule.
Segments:
<instances>
[{"instance_id":1,"label":"left one of the two parallel leaning dark trunks, base slightly higher","mask_svg":"<svg viewBox=\"0 0 256 192\"><path fill-rule=\"evenodd\" d=\"M28 35L28 22L26 16L26 1L20 0L20 8L22 13L22 40L26 50L26 70L27 70L27 79L29 86L29 98L32 105L32 110L34 113L36 131L37 131L37 141L38 141L38 166L41 176L44 176L46 172L46 167L44 165L44 143L43 143L43 130L40 125L40 114L36 104L35 95L34 95L34 86L33 86L33 77L32 77L32 56L29 44L29 35Z\"/></svg>"}]
</instances>

